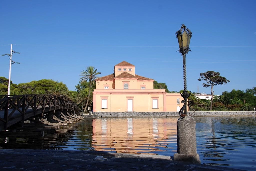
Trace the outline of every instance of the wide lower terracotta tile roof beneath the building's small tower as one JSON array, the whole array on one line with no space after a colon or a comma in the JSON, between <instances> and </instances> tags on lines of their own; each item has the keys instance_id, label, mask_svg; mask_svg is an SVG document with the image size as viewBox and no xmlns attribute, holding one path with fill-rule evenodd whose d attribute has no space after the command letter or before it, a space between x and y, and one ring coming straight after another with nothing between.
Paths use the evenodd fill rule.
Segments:
<instances>
[{"instance_id":1,"label":"wide lower terracotta tile roof beneath the building's small tower","mask_svg":"<svg viewBox=\"0 0 256 171\"><path fill-rule=\"evenodd\" d=\"M152 81L154 80L154 79L151 79L151 78L142 77L142 76L137 75L137 74L135 74L135 76L134 76L134 75L132 75L128 72L123 72L122 74L120 74L116 77L114 77L114 74L110 74L110 75L107 75L107 76L104 76L104 77L97 78L97 80L114 80L114 78L136 78L138 80L152 80Z\"/></svg>"}]
</instances>

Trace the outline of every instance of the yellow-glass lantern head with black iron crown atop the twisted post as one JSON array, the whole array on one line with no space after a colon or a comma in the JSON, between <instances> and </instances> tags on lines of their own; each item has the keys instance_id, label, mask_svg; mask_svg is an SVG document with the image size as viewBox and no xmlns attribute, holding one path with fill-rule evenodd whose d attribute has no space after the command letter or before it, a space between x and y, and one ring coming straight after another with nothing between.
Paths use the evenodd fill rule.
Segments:
<instances>
[{"instance_id":1,"label":"yellow-glass lantern head with black iron crown atop the twisted post","mask_svg":"<svg viewBox=\"0 0 256 171\"><path fill-rule=\"evenodd\" d=\"M192 37L192 32L182 24L181 28L176 32L176 37L178 38L179 42L179 52L184 55L187 54L190 50L189 44L190 39Z\"/></svg>"}]
</instances>

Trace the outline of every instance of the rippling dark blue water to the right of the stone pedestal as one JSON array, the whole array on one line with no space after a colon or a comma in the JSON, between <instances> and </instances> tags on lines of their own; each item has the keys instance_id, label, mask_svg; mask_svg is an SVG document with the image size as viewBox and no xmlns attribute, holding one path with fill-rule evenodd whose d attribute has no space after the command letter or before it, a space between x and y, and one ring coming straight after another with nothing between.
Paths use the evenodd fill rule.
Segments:
<instances>
[{"instance_id":1,"label":"rippling dark blue water to the right of the stone pedestal","mask_svg":"<svg viewBox=\"0 0 256 171\"><path fill-rule=\"evenodd\" d=\"M255 117L196 117L196 121L202 163L255 170Z\"/></svg>"}]
</instances>

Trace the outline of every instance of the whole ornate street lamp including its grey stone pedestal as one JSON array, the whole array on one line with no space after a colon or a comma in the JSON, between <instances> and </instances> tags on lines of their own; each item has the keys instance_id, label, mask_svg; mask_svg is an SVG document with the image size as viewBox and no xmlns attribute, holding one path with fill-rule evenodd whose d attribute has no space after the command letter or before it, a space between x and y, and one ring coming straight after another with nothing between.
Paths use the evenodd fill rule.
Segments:
<instances>
[{"instance_id":1,"label":"whole ornate street lamp including its grey stone pedestal","mask_svg":"<svg viewBox=\"0 0 256 171\"><path fill-rule=\"evenodd\" d=\"M192 36L191 31L183 24L176 32L179 41L179 52L183 55L184 91L180 93L184 98L183 107L179 111L180 118L177 121L177 153L174 154L175 161L185 161L200 164L200 157L196 148L196 120L187 116L187 100L190 94L187 91L186 54L190 51L189 43ZM187 117L186 117L187 116Z\"/></svg>"}]
</instances>

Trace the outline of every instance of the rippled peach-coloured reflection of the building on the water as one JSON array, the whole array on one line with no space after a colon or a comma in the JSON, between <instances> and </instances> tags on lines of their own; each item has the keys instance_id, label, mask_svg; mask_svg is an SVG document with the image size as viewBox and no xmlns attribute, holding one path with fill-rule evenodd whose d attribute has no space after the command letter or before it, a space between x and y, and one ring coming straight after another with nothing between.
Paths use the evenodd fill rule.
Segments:
<instances>
[{"instance_id":1,"label":"rippled peach-coloured reflection of the building on the water","mask_svg":"<svg viewBox=\"0 0 256 171\"><path fill-rule=\"evenodd\" d=\"M170 118L168 122L166 118L93 119L92 147L98 151L158 154L173 141L177 143L176 122L177 118L171 123Z\"/></svg>"}]
</instances>

